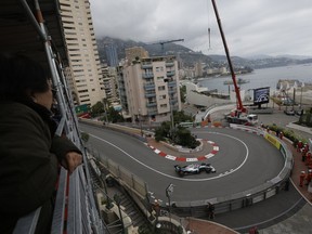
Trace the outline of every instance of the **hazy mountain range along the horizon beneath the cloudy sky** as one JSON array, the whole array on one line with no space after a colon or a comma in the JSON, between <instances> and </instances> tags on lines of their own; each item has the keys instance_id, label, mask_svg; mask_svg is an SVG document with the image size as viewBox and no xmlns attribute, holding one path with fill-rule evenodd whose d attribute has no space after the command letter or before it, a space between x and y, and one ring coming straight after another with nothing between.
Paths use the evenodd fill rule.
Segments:
<instances>
[{"instance_id":1,"label":"hazy mountain range along the horizon beneath the cloudy sky","mask_svg":"<svg viewBox=\"0 0 312 234\"><path fill-rule=\"evenodd\" d=\"M224 64L226 66L227 64L225 55L218 55L218 54L206 55L200 52L194 52L190 48L176 43L164 43L164 47L161 47L160 42L164 41L158 41L154 43L144 43L133 40L121 40L110 37L103 37L98 39L96 42L100 58L103 62L107 61L105 47L108 44L115 44L117 48L117 55L119 60L126 56L125 49L131 47L143 47L145 50L148 51L150 56L156 56L162 54L177 55L177 57L180 57L180 60L183 61L184 67L194 67L195 63L205 63L207 67L211 68L221 67L224 66ZM252 69L312 63L312 58L307 56L281 55L273 57L264 54L252 57L232 56L231 61L234 67L250 67Z\"/></svg>"}]
</instances>

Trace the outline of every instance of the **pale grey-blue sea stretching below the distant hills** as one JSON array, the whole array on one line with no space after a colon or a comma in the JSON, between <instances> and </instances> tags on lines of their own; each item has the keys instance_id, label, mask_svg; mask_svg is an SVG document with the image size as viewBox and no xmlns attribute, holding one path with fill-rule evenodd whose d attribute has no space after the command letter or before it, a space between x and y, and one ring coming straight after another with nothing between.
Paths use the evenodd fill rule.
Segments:
<instances>
[{"instance_id":1,"label":"pale grey-blue sea stretching below the distant hills","mask_svg":"<svg viewBox=\"0 0 312 234\"><path fill-rule=\"evenodd\" d=\"M312 83L312 64L255 69L250 74L236 75L236 80L238 78L248 81L247 83L239 84L240 90L270 87L273 91L276 90L276 84L280 79ZM229 90L234 89L234 86L224 84L225 80L232 80L232 76L199 78L197 84L206 87L208 90L217 89L219 93L227 94Z\"/></svg>"}]
</instances>

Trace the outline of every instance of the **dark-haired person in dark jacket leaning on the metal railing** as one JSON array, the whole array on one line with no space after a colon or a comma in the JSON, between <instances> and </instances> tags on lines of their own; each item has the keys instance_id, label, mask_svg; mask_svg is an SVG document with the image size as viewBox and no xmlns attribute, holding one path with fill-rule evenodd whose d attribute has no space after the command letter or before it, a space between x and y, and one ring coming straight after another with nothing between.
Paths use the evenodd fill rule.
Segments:
<instances>
[{"instance_id":1,"label":"dark-haired person in dark jacket leaning on the metal railing","mask_svg":"<svg viewBox=\"0 0 312 234\"><path fill-rule=\"evenodd\" d=\"M21 217L41 207L36 233L50 233L58 162L72 173L81 152L54 135L43 68L22 55L0 55L0 230L12 233Z\"/></svg>"}]
</instances>

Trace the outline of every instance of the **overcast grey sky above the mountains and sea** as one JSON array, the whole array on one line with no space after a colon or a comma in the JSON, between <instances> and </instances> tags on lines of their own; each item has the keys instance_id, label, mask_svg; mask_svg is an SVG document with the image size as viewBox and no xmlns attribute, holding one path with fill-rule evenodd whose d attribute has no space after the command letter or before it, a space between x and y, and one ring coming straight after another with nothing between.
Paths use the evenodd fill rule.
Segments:
<instances>
[{"instance_id":1,"label":"overcast grey sky above the mountains and sea","mask_svg":"<svg viewBox=\"0 0 312 234\"><path fill-rule=\"evenodd\" d=\"M96 38L225 54L211 0L90 0ZM216 0L231 55L312 56L312 0ZM210 44L208 28L210 28Z\"/></svg>"}]
</instances>

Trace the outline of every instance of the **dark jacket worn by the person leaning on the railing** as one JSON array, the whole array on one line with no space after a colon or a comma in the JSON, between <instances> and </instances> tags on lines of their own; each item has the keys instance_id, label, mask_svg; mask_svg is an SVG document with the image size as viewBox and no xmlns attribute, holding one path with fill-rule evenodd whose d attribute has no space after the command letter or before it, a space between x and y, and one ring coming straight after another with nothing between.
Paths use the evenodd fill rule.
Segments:
<instances>
[{"instance_id":1,"label":"dark jacket worn by the person leaning on the railing","mask_svg":"<svg viewBox=\"0 0 312 234\"><path fill-rule=\"evenodd\" d=\"M0 102L0 217L18 219L51 199L57 159L79 152L54 129L44 107Z\"/></svg>"}]
</instances>

